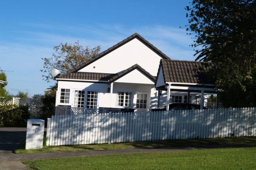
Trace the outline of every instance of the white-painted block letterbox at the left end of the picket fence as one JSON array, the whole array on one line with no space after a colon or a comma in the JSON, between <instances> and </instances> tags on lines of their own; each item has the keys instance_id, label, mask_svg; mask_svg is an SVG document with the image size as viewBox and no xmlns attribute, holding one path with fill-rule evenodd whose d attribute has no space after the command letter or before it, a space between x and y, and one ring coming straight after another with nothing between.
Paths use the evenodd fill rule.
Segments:
<instances>
[{"instance_id":1,"label":"white-painted block letterbox at the left end of the picket fence","mask_svg":"<svg viewBox=\"0 0 256 170\"><path fill-rule=\"evenodd\" d=\"M43 147L44 120L28 119L26 149L39 149Z\"/></svg>"}]
</instances>

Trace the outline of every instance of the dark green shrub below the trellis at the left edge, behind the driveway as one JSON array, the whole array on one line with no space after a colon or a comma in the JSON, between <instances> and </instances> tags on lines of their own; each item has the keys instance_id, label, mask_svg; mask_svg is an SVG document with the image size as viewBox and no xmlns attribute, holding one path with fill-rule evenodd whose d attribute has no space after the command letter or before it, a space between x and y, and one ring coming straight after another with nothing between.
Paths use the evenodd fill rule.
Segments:
<instances>
[{"instance_id":1,"label":"dark green shrub below the trellis at the left edge, behind the driveway","mask_svg":"<svg viewBox=\"0 0 256 170\"><path fill-rule=\"evenodd\" d=\"M29 119L28 106L0 106L0 127L26 127Z\"/></svg>"}]
</instances>

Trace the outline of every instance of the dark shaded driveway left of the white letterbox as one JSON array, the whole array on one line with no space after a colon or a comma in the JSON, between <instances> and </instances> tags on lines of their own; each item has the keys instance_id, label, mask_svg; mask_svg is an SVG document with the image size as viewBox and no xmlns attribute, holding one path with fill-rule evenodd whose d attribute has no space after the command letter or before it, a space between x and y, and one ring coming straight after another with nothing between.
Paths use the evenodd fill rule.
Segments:
<instances>
[{"instance_id":1,"label":"dark shaded driveway left of the white letterbox","mask_svg":"<svg viewBox=\"0 0 256 170\"><path fill-rule=\"evenodd\" d=\"M0 128L0 152L12 152L26 140L27 128Z\"/></svg>"}]
</instances>

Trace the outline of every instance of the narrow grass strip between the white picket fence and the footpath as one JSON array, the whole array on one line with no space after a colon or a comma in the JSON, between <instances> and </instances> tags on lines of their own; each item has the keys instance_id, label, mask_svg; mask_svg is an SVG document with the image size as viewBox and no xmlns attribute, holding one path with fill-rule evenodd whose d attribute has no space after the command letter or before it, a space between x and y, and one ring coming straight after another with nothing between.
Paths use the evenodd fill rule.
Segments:
<instances>
[{"instance_id":1,"label":"narrow grass strip between the white picket fence and the footpath","mask_svg":"<svg viewBox=\"0 0 256 170\"><path fill-rule=\"evenodd\" d=\"M210 139L184 139L184 140L162 140L143 141L112 144L89 144L89 145L69 145L69 146L45 146L41 149L25 149L25 142L15 150L15 153L47 153L47 152L71 152L89 150L115 150L115 149L135 149L135 148L169 148L175 146L207 146L207 145L228 145L256 143L256 137L230 137L230 138L210 138Z\"/></svg>"}]
</instances>

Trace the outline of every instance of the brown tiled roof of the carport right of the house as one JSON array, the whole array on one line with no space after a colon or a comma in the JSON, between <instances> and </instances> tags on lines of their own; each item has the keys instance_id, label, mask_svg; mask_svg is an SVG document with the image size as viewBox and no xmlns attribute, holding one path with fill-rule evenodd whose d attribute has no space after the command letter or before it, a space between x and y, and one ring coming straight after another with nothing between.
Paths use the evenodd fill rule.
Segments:
<instances>
[{"instance_id":1,"label":"brown tiled roof of the carport right of the house","mask_svg":"<svg viewBox=\"0 0 256 170\"><path fill-rule=\"evenodd\" d=\"M157 75L162 67L164 82L215 84L208 75L212 66L206 62L161 59Z\"/></svg>"}]
</instances>

